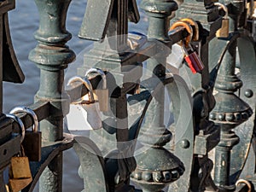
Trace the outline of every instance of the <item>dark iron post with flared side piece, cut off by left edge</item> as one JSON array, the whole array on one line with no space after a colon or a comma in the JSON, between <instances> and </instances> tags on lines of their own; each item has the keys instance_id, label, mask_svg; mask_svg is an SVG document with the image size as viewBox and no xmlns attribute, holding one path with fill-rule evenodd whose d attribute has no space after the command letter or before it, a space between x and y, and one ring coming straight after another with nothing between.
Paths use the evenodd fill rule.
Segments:
<instances>
[{"instance_id":1,"label":"dark iron post with flared side piece, cut off by left edge","mask_svg":"<svg viewBox=\"0 0 256 192\"><path fill-rule=\"evenodd\" d=\"M4 1L0 3L0 191L5 192L8 172L6 167L9 166L10 159L20 151L20 136L13 136L11 124L3 122L8 121L3 115L3 81L13 83L22 83L24 74L22 73L15 50L12 45L9 32L9 10L15 9L15 0ZM9 119L9 122L12 120Z\"/></svg>"}]
</instances>

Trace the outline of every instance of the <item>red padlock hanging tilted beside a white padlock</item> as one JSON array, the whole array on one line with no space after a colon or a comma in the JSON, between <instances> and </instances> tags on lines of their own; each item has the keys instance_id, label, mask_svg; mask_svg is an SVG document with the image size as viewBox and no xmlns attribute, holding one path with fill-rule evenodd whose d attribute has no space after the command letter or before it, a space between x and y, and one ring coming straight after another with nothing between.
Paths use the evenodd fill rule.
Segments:
<instances>
[{"instance_id":1,"label":"red padlock hanging tilted beside a white padlock","mask_svg":"<svg viewBox=\"0 0 256 192\"><path fill-rule=\"evenodd\" d=\"M201 73L204 68L203 62L200 57L197 55L195 50L192 49L191 45L189 45L189 49L182 45L184 59L188 63L189 68L192 73Z\"/></svg>"}]
</instances>

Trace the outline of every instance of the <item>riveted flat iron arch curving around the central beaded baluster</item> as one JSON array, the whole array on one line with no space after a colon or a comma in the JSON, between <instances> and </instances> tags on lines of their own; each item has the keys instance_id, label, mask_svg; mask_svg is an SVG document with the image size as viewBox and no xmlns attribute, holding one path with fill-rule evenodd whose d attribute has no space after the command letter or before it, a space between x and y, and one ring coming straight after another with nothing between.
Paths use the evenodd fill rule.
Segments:
<instances>
[{"instance_id":1,"label":"riveted flat iron arch curving around the central beaded baluster","mask_svg":"<svg viewBox=\"0 0 256 192\"><path fill-rule=\"evenodd\" d=\"M144 83L142 82L142 84ZM178 156L180 160L182 160L183 165L185 166L185 172L191 172L193 166L193 150L195 139L194 134L191 134L194 132L191 106L192 100L186 83L179 76L171 76L170 74L167 74L166 79L163 79L159 84L156 84L151 93L149 90L145 90L141 93L143 96L131 96L132 101L137 100L138 102L141 102L144 99L147 102L145 103L141 116L130 128L130 140L137 141L140 128L143 125L143 119L147 114L148 106L150 105L150 102L152 102L154 94L158 90L157 87L161 86L161 84L164 84L167 87L174 108L173 113L176 122L175 125L172 126L172 132L175 133L175 149L173 152ZM191 110L188 110L189 106ZM184 120L181 115L186 117L190 116L190 119ZM135 145L136 143L133 144L133 147L135 147ZM183 177L181 182L180 180L177 180L174 184L170 185L169 188L171 191L175 189L180 189L180 191L189 191L190 174L183 174L181 177ZM184 183L184 181L187 182Z\"/></svg>"}]
</instances>

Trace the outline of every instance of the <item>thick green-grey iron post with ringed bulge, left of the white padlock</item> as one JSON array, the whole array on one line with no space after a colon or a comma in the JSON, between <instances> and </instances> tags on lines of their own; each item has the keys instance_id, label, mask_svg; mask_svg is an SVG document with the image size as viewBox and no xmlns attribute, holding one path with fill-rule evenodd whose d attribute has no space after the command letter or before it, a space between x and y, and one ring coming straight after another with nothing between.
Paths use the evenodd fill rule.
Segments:
<instances>
[{"instance_id":1,"label":"thick green-grey iron post with ringed bulge, left of the white padlock","mask_svg":"<svg viewBox=\"0 0 256 192\"><path fill-rule=\"evenodd\" d=\"M40 68L40 88L35 102L50 102L49 118L41 121L43 146L62 139L63 116L68 113L69 99L63 91L64 69L75 54L68 49L72 37L66 30L66 15L70 0L35 0L40 23L35 38L38 45L29 59ZM40 191L61 191L62 154L49 163L40 178Z\"/></svg>"}]
</instances>

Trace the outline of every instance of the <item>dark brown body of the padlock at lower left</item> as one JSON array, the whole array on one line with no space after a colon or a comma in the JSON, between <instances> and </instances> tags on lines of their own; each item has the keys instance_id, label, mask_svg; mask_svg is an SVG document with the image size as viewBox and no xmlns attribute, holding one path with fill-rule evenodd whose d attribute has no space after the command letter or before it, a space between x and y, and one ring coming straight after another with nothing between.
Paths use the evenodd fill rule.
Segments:
<instances>
[{"instance_id":1,"label":"dark brown body of the padlock at lower left","mask_svg":"<svg viewBox=\"0 0 256 192\"><path fill-rule=\"evenodd\" d=\"M40 131L26 131L22 145L30 161L41 160L42 133Z\"/></svg>"}]
</instances>

